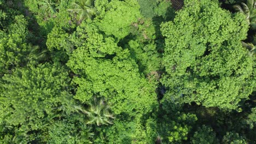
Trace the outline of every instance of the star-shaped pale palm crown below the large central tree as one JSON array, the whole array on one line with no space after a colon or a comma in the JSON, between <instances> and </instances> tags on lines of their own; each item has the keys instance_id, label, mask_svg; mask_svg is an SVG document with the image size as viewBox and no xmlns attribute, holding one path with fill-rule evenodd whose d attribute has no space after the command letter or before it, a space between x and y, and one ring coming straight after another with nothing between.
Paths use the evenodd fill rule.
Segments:
<instances>
[{"instance_id":1,"label":"star-shaped pale palm crown below the large central tree","mask_svg":"<svg viewBox=\"0 0 256 144\"><path fill-rule=\"evenodd\" d=\"M88 110L84 110L81 106L75 106L80 112L85 113L89 120L86 124L96 123L98 126L101 124L112 124L110 118L114 118L112 114L109 113L109 106L104 102L104 100L97 101L94 99L94 104L89 104Z\"/></svg>"}]
</instances>

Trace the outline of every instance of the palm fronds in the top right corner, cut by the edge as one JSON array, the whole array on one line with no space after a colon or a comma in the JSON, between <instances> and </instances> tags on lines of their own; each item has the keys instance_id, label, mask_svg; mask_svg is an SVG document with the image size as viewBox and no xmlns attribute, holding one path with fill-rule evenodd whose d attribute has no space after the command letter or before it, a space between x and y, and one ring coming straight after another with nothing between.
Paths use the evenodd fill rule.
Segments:
<instances>
[{"instance_id":1,"label":"palm fronds in the top right corner, cut by the edge","mask_svg":"<svg viewBox=\"0 0 256 144\"><path fill-rule=\"evenodd\" d=\"M246 20L250 25L250 28L256 29L256 9L255 9L255 1L247 0L247 3L241 3L241 5L234 5L236 11L243 13L246 16Z\"/></svg>"}]
</instances>

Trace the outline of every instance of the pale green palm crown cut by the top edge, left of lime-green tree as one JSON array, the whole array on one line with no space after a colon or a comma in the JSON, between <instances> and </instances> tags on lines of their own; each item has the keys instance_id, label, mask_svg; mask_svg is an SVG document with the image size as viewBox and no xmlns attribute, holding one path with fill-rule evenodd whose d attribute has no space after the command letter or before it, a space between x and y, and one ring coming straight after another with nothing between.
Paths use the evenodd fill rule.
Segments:
<instances>
[{"instance_id":1,"label":"pale green palm crown cut by the top edge, left of lime-green tree","mask_svg":"<svg viewBox=\"0 0 256 144\"><path fill-rule=\"evenodd\" d=\"M94 15L92 0L79 0L78 3L73 3L72 5L73 9L68 9L68 11L78 15L79 23L84 19L91 19L92 15Z\"/></svg>"}]
</instances>

